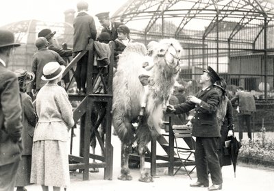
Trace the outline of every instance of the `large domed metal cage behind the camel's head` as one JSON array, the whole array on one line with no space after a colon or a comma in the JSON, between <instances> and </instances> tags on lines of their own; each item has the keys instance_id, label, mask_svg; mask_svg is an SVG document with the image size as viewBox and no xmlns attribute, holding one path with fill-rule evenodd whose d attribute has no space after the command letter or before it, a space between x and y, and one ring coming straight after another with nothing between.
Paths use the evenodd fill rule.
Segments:
<instances>
[{"instance_id":1,"label":"large domed metal cage behind the camel's head","mask_svg":"<svg viewBox=\"0 0 274 191\"><path fill-rule=\"evenodd\" d=\"M271 0L131 0L112 19L125 23L132 38L145 44L180 40L182 77L197 79L210 65L228 84L268 99L274 97L273 16ZM252 63L254 56L259 62Z\"/></svg>"}]
</instances>

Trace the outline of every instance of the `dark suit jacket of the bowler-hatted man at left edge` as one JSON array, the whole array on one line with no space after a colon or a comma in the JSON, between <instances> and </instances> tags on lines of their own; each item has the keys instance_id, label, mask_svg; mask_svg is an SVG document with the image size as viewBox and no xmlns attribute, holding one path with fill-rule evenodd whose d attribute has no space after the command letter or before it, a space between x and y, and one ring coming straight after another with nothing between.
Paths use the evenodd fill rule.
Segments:
<instances>
[{"instance_id":1,"label":"dark suit jacket of the bowler-hatted man at left edge","mask_svg":"<svg viewBox=\"0 0 274 191\"><path fill-rule=\"evenodd\" d=\"M0 166L21 160L23 125L17 77L0 62Z\"/></svg>"}]
</instances>

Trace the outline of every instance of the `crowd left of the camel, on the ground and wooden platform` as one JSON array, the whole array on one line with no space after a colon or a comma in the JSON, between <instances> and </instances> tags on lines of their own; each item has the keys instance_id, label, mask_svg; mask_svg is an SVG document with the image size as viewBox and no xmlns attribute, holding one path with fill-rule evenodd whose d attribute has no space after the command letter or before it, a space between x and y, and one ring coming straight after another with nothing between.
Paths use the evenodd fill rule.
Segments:
<instances>
[{"instance_id":1,"label":"crowd left of the camel, on the ground and wooden platform","mask_svg":"<svg viewBox=\"0 0 274 191\"><path fill-rule=\"evenodd\" d=\"M0 190L25 190L36 183L42 190L69 186L69 161L66 141L75 122L68 95L64 90L69 76L62 77L66 58L88 49L90 39L103 44L114 42L115 63L132 39L123 23L110 21L109 12L97 14L103 26L97 38L95 21L88 3L77 3L73 22L73 47L55 47L56 31L42 29L35 41L37 48L32 71L8 70L10 54L20 44L11 31L0 31L1 107L0 107ZM96 44L95 46L99 46ZM100 45L105 48L106 45ZM98 61L99 62L99 61ZM75 81L78 94L86 93L88 52L77 62ZM34 101L35 99L35 101ZM33 102L34 101L34 102Z\"/></svg>"}]
</instances>

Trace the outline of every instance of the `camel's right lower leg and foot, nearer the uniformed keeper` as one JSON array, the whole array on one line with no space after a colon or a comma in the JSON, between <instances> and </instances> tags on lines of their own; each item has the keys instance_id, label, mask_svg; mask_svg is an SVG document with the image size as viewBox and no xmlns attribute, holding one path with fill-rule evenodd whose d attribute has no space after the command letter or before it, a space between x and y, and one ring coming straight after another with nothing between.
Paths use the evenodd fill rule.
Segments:
<instances>
[{"instance_id":1,"label":"camel's right lower leg and foot, nearer the uniformed keeper","mask_svg":"<svg viewBox=\"0 0 274 191\"><path fill-rule=\"evenodd\" d=\"M138 151L140 154L140 179L143 182L153 182L153 178L150 173L145 169L145 145L139 145Z\"/></svg>"}]
</instances>

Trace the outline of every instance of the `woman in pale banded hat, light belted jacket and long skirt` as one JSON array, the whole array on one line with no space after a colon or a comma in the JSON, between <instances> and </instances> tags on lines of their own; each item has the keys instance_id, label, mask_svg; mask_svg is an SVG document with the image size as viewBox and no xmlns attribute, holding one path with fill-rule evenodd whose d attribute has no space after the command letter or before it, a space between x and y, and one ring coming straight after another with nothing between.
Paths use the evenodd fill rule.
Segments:
<instances>
[{"instance_id":1,"label":"woman in pale banded hat, light belted jacket and long skirt","mask_svg":"<svg viewBox=\"0 0 274 191\"><path fill-rule=\"evenodd\" d=\"M66 91L58 82L62 79L64 66L58 62L47 63L42 80L47 81L36 97L38 123L34 130L32 149L31 182L42 190L60 190L69 186L69 160L66 141L73 127L73 112Z\"/></svg>"}]
</instances>

